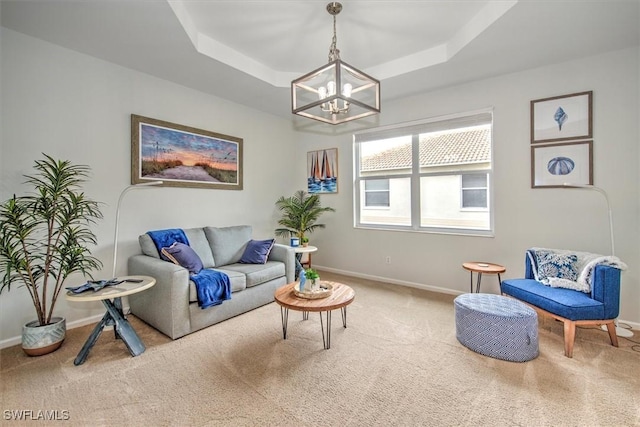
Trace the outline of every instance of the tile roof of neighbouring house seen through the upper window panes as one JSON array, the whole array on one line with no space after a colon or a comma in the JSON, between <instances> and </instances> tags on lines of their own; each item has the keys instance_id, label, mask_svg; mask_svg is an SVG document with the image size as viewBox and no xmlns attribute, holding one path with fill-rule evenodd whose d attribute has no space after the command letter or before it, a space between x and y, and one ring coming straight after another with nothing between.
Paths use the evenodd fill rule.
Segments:
<instances>
[{"instance_id":1,"label":"tile roof of neighbouring house seen through the upper window panes","mask_svg":"<svg viewBox=\"0 0 640 427\"><path fill-rule=\"evenodd\" d=\"M420 165L442 166L491 161L491 127L480 126L420 135ZM411 144L362 158L361 170L405 169L411 166Z\"/></svg>"}]
</instances>

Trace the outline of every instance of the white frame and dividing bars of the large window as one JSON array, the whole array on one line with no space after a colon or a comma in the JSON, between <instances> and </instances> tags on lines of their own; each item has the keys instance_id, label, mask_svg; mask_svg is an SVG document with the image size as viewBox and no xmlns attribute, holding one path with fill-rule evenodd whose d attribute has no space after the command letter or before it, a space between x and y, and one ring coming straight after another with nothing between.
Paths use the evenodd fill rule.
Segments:
<instances>
[{"instance_id":1,"label":"white frame and dividing bars of the large window","mask_svg":"<svg viewBox=\"0 0 640 427\"><path fill-rule=\"evenodd\" d=\"M363 229L376 229L376 230L398 230L398 231L412 231L412 232L426 232L437 234L462 234L472 236L493 237L494 236L494 201L493 201L493 129L491 132L491 154L490 154L490 166L486 169L476 169L473 171L463 170L451 171L451 169L443 172L421 172L419 164L419 135L426 132L457 129L478 124L489 124L493 128L493 110L491 108L476 110L461 114L452 114L446 116L439 116L429 118L425 120L419 120L414 122L401 123L397 125L379 127L375 129L369 129L362 132L355 133L353 136L353 159L354 159L354 227ZM384 140L388 138L397 137L400 135L413 135L412 137L412 167L411 170L407 170L406 173L377 171L373 176L360 176L360 152L361 144L367 141ZM489 224L487 229L475 229L465 227L426 227L421 226L420 218L420 179L430 176L444 176L444 175L462 175L463 173L486 173L487 174L487 208L464 208L461 210L484 210L489 213ZM391 224L369 224L362 223L360 220L360 212L363 207L363 194L361 194L362 181L367 179L397 179L397 178L410 178L411 180L411 225L391 225ZM460 191L462 182L460 182ZM462 206L462 199L460 201Z\"/></svg>"}]
</instances>

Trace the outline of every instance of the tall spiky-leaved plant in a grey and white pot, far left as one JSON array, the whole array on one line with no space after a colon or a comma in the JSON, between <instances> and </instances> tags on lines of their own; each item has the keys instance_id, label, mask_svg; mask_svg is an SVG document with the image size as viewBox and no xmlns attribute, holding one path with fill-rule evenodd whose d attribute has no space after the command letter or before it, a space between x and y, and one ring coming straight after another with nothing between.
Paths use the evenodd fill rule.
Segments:
<instances>
[{"instance_id":1,"label":"tall spiky-leaved plant in a grey and white pot, far left","mask_svg":"<svg viewBox=\"0 0 640 427\"><path fill-rule=\"evenodd\" d=\"M22 331L22 348L31 356L57 350L66 334L65 319L53 311L69 275L91 271L102 263L91 255L97 239L89 225L102 218L99 204L81 191L89 167L43 154L34 175L25 175L31 192L0 205L0 293L24 287L37 320Z\"/></svg>"}]
</instances>

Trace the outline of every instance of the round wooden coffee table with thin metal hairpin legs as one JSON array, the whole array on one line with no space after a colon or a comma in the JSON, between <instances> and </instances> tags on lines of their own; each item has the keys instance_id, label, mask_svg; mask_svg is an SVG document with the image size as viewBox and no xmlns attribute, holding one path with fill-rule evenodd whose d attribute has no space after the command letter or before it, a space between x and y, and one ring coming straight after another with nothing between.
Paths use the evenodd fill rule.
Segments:
<instances>
[{"instance_id":1,"label":"round wooden coffee table with thin metal hairpin legs","mask_svg":"<svg viewBox=\"0 0 640 427\"><path fill-rule=\"evenodd\" d=\"M282 335L287 339L287 323L289 321L289 310L301 311L303 320L309 318L309 312L315 311L320 314L320 328L322 329L322 343L325 350L331 348L331 311L340 309L342 313L342 326L347 327L347 306L351 304L356 293L349 286L338 282L321 281L333 286L331 295L325 298L308 299L296 296L293 288L297 282L289 283L278 289L274 295L276 302L280 305L280 316L282 318ZM325 338L325 320L322 312L326 312L327 334Z\"/></svg>"}]
</instances>

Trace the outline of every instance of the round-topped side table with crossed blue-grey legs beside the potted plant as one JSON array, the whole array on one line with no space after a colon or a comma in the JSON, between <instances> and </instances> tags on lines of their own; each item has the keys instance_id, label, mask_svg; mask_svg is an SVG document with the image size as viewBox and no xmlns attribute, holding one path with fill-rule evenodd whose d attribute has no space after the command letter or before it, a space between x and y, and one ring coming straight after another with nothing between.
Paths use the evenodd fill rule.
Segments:
<instances>
[{"instance_id":1,"label":"round-topped side table with crossed blue-grey legs beside the potted plant","mask_svg":"<svg viewBox=\"0 0 640 427\"><path fill-rule=\"evenodd\" d=\"M156 284L156 279L149 276L124 276L114 278L113 280L123 280L123 282L118 285L107 286L96 292L86 291L81 294L74 294L68 291L65 295L69 301L102 301L102 304L107 308L107 312L102 317L102 320L100 320L93 329L84 346L82 346L80 353L78 353L78 356L73 361L73 364L76 366L82 365L87 359L89 351L91 351L91 348L95 345L105 326L114 326L116 338L122 338L122 341L132 356L135 357L144 353L144 344L140 340L140 337L138 337L138 334L136 334L136 331L133 330L129 321L124 317L121 298L149 289ZM127 280L133 281L128 282Z\"/></svg>"}]
</instances>

